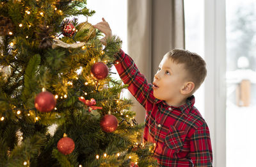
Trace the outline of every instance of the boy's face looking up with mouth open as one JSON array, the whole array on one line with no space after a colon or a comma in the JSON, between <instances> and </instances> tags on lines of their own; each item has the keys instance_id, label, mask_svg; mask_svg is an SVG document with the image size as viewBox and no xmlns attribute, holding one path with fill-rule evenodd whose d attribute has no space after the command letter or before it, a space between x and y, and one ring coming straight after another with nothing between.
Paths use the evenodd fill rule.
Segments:
<instances>
[{"instance_id":1,"label":"boy's face looking up with mouth open","mask_svg":"<svg viewBox=\"0 0 256 167\"><path fill-rule=\"evenodd\" d=\"M164 56L154 77L154 97L172 104L181 95L186 75L184 64L176 64L168 56Z\"/></svg>"}]
</instances>

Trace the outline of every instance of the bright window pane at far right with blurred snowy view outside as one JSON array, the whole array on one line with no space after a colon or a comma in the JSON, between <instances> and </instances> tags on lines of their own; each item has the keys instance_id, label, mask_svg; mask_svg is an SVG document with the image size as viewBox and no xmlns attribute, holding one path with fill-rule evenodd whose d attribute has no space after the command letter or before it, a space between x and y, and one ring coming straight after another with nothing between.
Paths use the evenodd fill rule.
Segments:
<instances>
[{"instance_id":1,"label":"bright window pane at far right with blurred snowy view outside","mask_svg":"<svg viewBox=\"0 0 256 167\"><path fill-rule=\"evenodd\" d=\"M227 0L227 166L253 166L256 1Z\"/></svg>"}]
</instances>

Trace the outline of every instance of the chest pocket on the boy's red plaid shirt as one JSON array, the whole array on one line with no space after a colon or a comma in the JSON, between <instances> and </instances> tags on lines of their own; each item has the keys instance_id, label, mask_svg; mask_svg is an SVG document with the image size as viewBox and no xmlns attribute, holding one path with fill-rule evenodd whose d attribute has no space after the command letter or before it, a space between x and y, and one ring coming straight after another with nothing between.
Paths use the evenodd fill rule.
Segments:
<instances>
[{"instance_id":1,"label":"chest pocket on the boy's red plaid shirt","mask_svg":"<svg viewBox=\"0 0 256 167\"><path fill-rule=\"evenodd\" d=\"M179 152L180 148L183 147L185 137L185 131L177 131L174 126L171 126L169 129L169 134L167 134L164 138L164 143L168 148L174 150L175 152Z\"/></svg>"}]
</instances>

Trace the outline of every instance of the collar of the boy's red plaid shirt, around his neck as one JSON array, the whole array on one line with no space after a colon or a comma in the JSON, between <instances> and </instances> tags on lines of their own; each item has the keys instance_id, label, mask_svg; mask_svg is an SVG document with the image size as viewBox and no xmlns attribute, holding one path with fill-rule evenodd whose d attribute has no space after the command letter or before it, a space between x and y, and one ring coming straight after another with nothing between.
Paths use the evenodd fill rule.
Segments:
<instances>
[{"instance_id":1,"label":"collar of the boy's red plaid shirt, around his neck","mask_svg":"<svg viewBox=\"0 0 256 167\"><path fill-rule=\"evenodd\" d=\"M155 99L156 104L159 104L161 102L163 103L164 106L168 107L168 104L166 104L164 100ZM179 107L170 106L170 107L176 109L177 111L181 111L184 115L188 115L191 107L193 107L194 104L195 104L195 96L192 95L191 97L188 97L188 99L186 100L186 103L183 104L182 106L179 106Z\"/></svg>"}]
</instances>

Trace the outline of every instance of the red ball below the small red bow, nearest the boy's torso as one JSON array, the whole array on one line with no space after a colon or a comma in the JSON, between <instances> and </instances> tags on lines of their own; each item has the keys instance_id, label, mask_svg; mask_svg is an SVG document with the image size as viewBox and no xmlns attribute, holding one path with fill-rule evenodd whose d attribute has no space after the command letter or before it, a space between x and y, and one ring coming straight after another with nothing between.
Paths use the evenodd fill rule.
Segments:
<instances>
[{"instance_id":1,"label":"red ball below the small red bow, nearest the boy's torso","mask_svg":"<svg viewBox=\"0 0 256 167\"><path fill-rule=\"evenodd\" d=\"M113 132L118 127L118 120L113 115L105 115L100 120L100 127L104 132Z\"/></svg>"}]
</instances>

